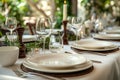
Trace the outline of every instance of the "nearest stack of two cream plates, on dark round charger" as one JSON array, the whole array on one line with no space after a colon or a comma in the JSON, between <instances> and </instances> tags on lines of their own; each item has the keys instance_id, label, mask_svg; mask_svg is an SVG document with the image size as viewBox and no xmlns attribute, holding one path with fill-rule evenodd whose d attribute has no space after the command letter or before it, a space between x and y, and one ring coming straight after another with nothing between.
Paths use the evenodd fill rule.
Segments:
<instances>
[{"instance_id":1,"label":"nearest stack of two cream plates, on dark round charger","mask_svg":"<svg viewBox=\"0 0 120 80\"><path fill-rule=\"evenodd\" d=\"M49 53L27 58L23 66L47 73L68 73L88 69L92 62L80 54Z\"/></svg>"}]
</instances>

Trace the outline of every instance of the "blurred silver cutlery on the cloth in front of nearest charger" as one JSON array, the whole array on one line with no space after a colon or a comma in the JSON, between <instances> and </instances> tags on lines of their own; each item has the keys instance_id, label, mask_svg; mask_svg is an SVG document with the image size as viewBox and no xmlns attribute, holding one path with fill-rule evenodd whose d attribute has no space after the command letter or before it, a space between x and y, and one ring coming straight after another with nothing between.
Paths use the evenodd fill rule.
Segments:
<instances>
[{"instance_id":1,"label":"blurred silver cutlery on the cloth in front of nearest charger","mask_svg":"<svg viewBox=\"0 0 120 80\"><path fill-rule=\"evenodd\" d=\"M15 74L18 77L21 77L21 78L36 76L36 77L43 77L43 78L46 78L46 79L49 79L49 80L66 80L64 78L53 77L53 76L45 75L45 74L42 74L42 73L24 72L19 68L13 69L13 71L15 72Z\"/></svg>"}]
</instances>

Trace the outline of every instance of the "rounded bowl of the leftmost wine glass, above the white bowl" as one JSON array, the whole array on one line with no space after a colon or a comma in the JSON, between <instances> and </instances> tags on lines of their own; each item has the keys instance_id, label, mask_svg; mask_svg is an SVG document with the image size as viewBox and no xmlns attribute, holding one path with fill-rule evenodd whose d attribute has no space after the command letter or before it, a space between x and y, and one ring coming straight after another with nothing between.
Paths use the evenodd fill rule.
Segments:
<instances>
[{"instance_id":1,"label":"rounded bowl of the leftmost wine glass, above the white bowl","mask_svg":"<svg viewBox=\"0 0 120 80\"><path fill-rule=\"evenodd\" d=\"M15 17L6 17L5 21L5 29L10 31L10 34L12 35L13 31L17 27L17 20Z\"/></svg>"}]
</instances>

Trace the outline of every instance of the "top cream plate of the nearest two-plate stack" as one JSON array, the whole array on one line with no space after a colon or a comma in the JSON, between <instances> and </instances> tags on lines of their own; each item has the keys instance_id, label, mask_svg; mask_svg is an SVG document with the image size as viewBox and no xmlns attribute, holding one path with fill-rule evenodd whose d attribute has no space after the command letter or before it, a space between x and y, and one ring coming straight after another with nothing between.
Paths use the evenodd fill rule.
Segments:
<instances>
[{"instance_id":1,"label":"top cream plate of the nearest two-plate stack","mask_svg":"<svg viewBox=\"0 0 120 80\"><path fill-rule=\"evenodd\" d=\"M80 54L49 53L37 54L26 61L37 67L63 69L83 64L86 62L86 58Z\"/></svg>"}]
</instances>

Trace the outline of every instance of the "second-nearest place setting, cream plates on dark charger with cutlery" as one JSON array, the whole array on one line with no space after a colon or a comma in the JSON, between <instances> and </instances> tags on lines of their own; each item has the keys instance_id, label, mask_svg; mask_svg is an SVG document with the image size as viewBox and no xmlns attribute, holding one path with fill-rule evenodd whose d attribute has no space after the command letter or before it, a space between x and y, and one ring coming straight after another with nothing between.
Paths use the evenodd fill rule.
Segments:
<instances>
[{"instance_id":1,"label":"second-nearest place setting, cream plates on dark charger with cutlery","mask_svg":"<svg viewBox=\"0 0 120 80\"><path fill-rule=\"evenodd\" d=\"M78 54L91 54L106 57L109 54L119 51L119 46L113 42L108 41L82 39L80 41L72 43L71 49ZM99 60L93 60L93 62L101 63Z\"/></svg>"}]
</instances>

